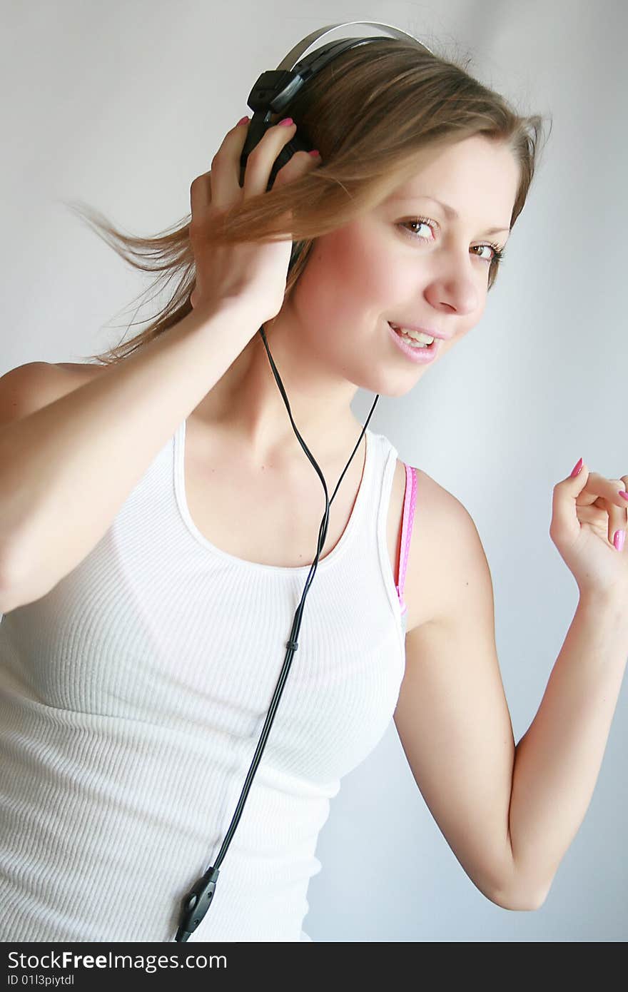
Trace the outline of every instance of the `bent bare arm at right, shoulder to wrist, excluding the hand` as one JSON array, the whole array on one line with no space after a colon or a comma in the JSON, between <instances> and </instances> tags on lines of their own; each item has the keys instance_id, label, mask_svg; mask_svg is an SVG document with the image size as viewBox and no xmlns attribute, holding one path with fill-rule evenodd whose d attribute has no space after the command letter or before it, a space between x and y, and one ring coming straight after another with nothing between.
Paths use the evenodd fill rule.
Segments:
<instances>
[{"instance_id":1,"label":"bent bare arm at right, shoulder to wrist, excluding the hand","mask_svg":"<svg viewBox=\"0 0 628 992\"><path fill-rule=\"evenodd\" d=\"M426 515L440 615L406 637L395 723L466 874L496 905L535 910L595 788L628 657L628 612L617 600L580 597L539 710L515 747L477 529L443 489ZM426 568L421 555L413 564L412 547L409 562Z\"/></svg>"}]
</instances>

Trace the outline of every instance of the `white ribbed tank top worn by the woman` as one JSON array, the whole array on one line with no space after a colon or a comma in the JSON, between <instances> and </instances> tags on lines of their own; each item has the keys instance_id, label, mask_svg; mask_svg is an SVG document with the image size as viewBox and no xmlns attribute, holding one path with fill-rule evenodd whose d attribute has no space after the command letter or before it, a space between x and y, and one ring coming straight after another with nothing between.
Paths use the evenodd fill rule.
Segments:
<instances>
[{"instance_id":1,"label":"white ribbed tank top worn by the woman","mask_svg":"<svg viewBox=\"0 0 628 992\"><path fill-rule=\"evenodd\" d=\"M174 940L237 805L311 566L234 558L200 534L185 436L184 422L86 558L0 616L5 942ZM392 718L405 665L386 541L397 451L366 438L353 511L318 562L260 765L189 942L311 939L302 925L329 801Z\"/></svg>"}]
</instances>

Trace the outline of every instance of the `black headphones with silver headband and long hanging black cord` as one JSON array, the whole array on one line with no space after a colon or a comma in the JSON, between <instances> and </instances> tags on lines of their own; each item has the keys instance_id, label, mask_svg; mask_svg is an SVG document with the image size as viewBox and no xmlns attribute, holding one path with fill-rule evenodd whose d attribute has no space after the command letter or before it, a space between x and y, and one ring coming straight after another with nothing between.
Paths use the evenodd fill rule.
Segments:
<instances>
[{"instance_id":1,"label":"black headphones with silver headband and long hanging black cord","mask_svg":"<svg viewBox=\"0 0 628 992\"><path fill-rule=\"evenodd\" d=\"M326 27L324 28L320 28L317 31L314 31L311 35L308 35L307 38L304 38L301 42L295 45L294 49L292 49L288 53L286 58L279 63L276 69L270 69L267 72L262 72L262 74L258 77L257 81L255 82L255 85L253 86L251 92L249 93L247 105L253 111L253 117L251 118L251 122L248 127L247 139L244 145L244 149L242 151L242 155L240 157L240 186L242 185L244 170L246 169L246 162L248 156L253 151L253 149L258 144L258 142L261 141L262 137L264 136L268 128L272 126L270 121L271 114L280 113L284 109L284 107L288 103L290 103L290 101L294 98L295 94L299 92L299 90L304 85L304 83L306 83L308 79L312 78L312 76L314 76L316 72L319 72L320 69L327 64L327 62L331 62L332 59L335 59L343 52L347 52L349 49L357 48L359 45L367 45L369 42L380 41L379 37L376 36L373 38L349 38L349 39L343 39L341 41L329 42L326 45L322 46L322 48L315 49L313 53L301 59L301 61L298 61L300 60L303 53L306 52L308 49L310 49L318 38L321 38L322 36L329 34L330 31L334 31L336 28L346 28L352 24L365 24L372 28L382 28L386 35L389 35L392 38L399 38L402 41L410 40L414 42L416 45L420 46L421 48L433 54L431 50L427 48L427 46L423 45L423 43L420 42L413 35L409 35L407 32L402 31L400 28L394 28L389 24L381 24L379 21L345 21L342 24L329 24L326 25ZM277 176L279 170L284 165L286 165L286 163L295 154L295 152L300 152L300 151L310 152L312 150L313 150L313 146L311 144L308 144L306 141L304 141L300 137L298 131L295 132L293 138L282 148L281 152L277 156L277 159L275 160L275 163L273 165L270 174L268 189L270 189L270 187L273 185L275 181L275 177ZM298 249L296 248L296 243L295 243L293 244L293 253L291 256L290 265L294 264L297 254L298 254ZM322 483L322 488L324 490L324 495L325 495L325 512L320 522L316 557L314 558L312 569L306 580L306 586L304 589L303 596L301 598L301 602L299 603L297 612L295 613L290 639L286 642L286 647L288 648L288 651L286 653L286 658L279 676L279 680L275 687L275 692L273 693L273 698L271 699L271 704L269 706L268 713L266 715L266 720L262 728L262 733L260 735L257 748L255 749L253 761L251 762L251 766L248 770L246 780L242 788L242 792L240 793L238 804L235 808L235 812L233 813L231 823L229 824L229 828L225 834L224 840L222 841L222 845L220 847L220 850L218 852L214 864L211 867L207 868L205 873L201 876L201 878L199 878L194 883L192 888L189 890L188 894L183 899L179 930L177 930L177 936L175 937L175 940L178 941L188 940L190 933L193 933L193 931L196 930L196 927L204 917L205 913L207 912L211 904L211 900L213 898L213 894L216 888L216 882L218 880L218 875L220 874L219 871L220 865L224 860L229 844L231 843L231 838L235 833L235 829L240 820L240 816L242 815L242 810L244 808L246 798L249 794L249 790L253 782L253 777L255 775L255 772L257 771L257 767L260 763L262 753L264 751L266 740L268 738L271 726L273 725L275 713L279 705L279 700L281 698L284 685L288 678L288 673L290 672L290 666L292 664L293 657L299 647L297 637L301 629L304 603L306 601L306 596L308 595L308 592L310 590L310 586L312 585L312 579L314 578L314 573L318 564L318 557L324 546L325 538L327 536L329 506L333 502L335 494L338 491L338 486L340 485L344 477L344 473L351 464L353 455L355 454L361 443L362 437L364 436L364 432L368 427L369 421L373 415L373 411L375 410L375 407L377 405L377 401L379 400L379 394L378 394L375 397L375 402L373 403L370 413L366 419L366 423L362 429L362 434L360 434L357 444L353 448L351 457L347 461L344 467L344 471L342 472L342 475L338 479L338 483L335 489L333 490L333 495L331 499L329 499L327 493L327 487L325 485L325 480L322 475L322 472L320 471L318 465L316 464L312 452L310 451L310 448L304 441L301 434L299 434L299 431L297 430L297 426L293 420L293 416L290 410L290 403L288 402L288 397L286 396L286 391L284 390L284 386L280 379L279 372L277 371L277 367L269 351L268 342L266 340L266 335L264 333L263 327L259 328L259 333L262 335L262 340L264 341L264 347L266 348L266 351L268 353L268 360L271 363L271 368L273 370L273 374L277 381L277 385L279 386L279 390L282 394L284 403L286 404L286 409L288 410L288 416L290 417L290 421L295 431L295 434L297 434L301 446L303 447L304 451L310 458L310 461L314 465L314 468Z\"/></svg>"}]
</instances>

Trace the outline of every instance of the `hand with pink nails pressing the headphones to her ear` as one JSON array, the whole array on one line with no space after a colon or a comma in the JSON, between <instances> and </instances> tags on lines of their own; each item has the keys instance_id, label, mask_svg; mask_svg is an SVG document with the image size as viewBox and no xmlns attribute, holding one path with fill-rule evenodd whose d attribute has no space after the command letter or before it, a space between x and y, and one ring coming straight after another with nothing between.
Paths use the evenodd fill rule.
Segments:
<instances>
[{"instance_id":1,"label":"hand with pink nails pressing the headphones to her ear","mask_svg":"<svg viewBox=\"0 0 628 992\"><path fill-rule=\"evenodd\" d=\"M225 135L211 160L209 172L198 176L191 184L189 240L196 279L190 303L194 310L214 309L234 300L248 302L261 326L282 309L292 252L290 238L216 247L208 245L203 234L214 218L234 203L266 191L273 164L295 131L295 124L270 127L248 156L244 186L240 186L240 156L248 125L236 125ZM296 152L277 173L273 188L304 176L319 162L317 156ZM292 211L288 211L287 231L291 217Z\"/></svg>"}]
</instances>

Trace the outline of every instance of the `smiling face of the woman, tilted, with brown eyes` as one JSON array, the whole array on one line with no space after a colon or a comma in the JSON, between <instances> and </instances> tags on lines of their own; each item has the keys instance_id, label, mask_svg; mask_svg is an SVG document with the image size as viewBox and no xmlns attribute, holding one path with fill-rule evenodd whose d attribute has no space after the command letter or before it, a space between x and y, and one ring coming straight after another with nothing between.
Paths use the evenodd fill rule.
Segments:
<instances>
[{"instance_id":1,"label":"smiling face of the woman, tilted, with brown eyes","mask_svg":"<svg viewBox=\"0 0 628 992\"><path fill-rule=\"evenodd\" d=\"M285 305L312 368L384 396L412 389L480 319L489 242L506 243L518 185L512 152L474 135L437 153L374 210L317 238ZM417 364L391 338L388 320L446 340L431 362Z\"/></svg>"}]
</instances>

